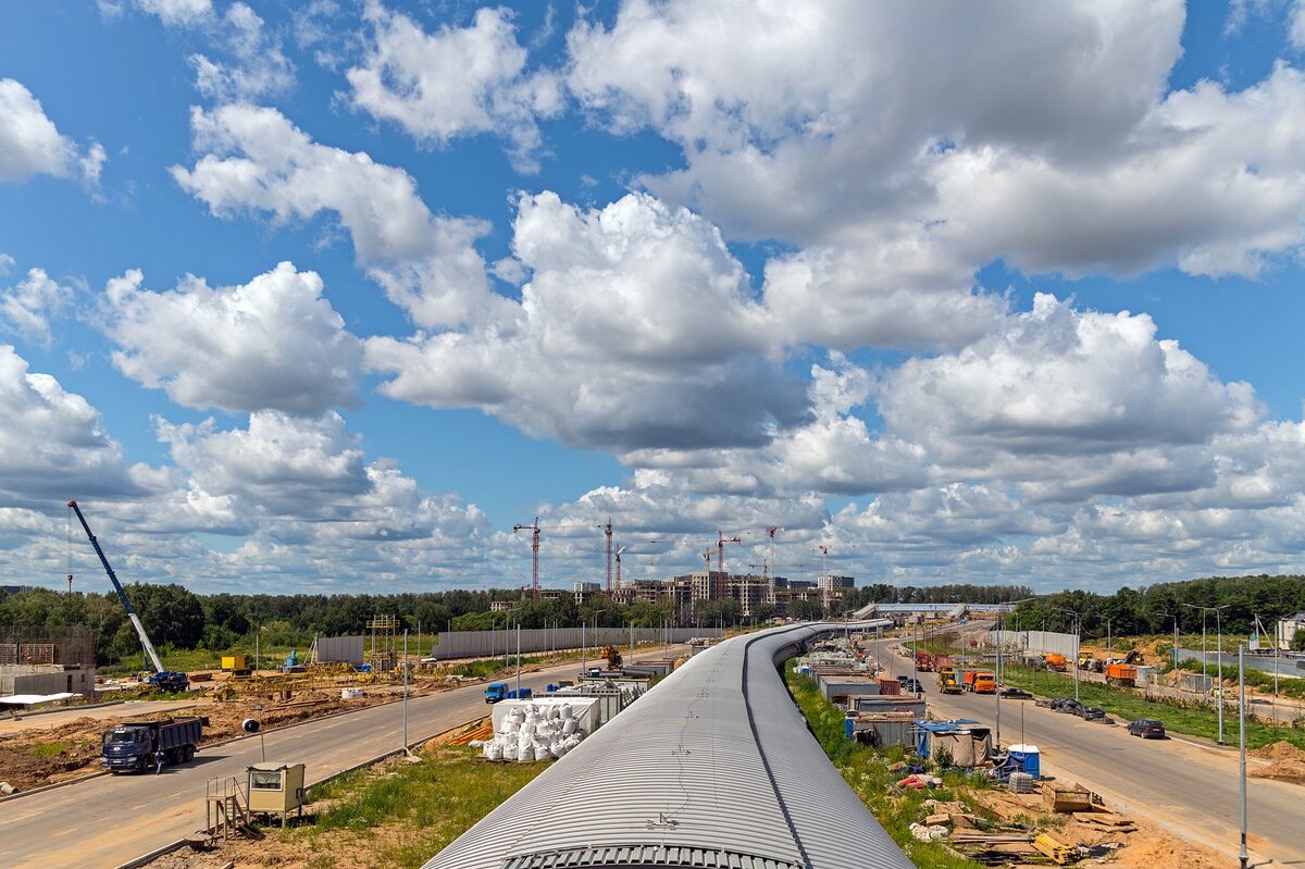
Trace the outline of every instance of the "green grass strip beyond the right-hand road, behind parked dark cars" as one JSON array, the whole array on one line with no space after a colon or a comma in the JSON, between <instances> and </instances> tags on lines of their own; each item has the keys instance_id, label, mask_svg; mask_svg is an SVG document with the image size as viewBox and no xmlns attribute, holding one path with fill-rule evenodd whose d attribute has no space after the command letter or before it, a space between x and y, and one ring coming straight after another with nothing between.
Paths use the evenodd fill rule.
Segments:
<instances>
[{"instance_id":1,"label":"green grass strip beyond the right-hand road, behind parked dark cars","mask_svg":"<svg viewBox=\"0 0 1305 869\"><path fill-rule=\"evenodd\" d=\"M1002 665L1002 681L1035 692L1043 697L1073 697L1073 675L1048 673L1031 667ZM1147 699L1139 692L1129 688L1101 685L1099 682L1079 682L1079 699L1088 706L1100 706L1111 715L1125 720L1158 718L1167 731L1186 736L1198 736L1211 741L1219 739L1219 718L1214 709L1197 706L1178 699ZM1231 706L1224 710L1224 741L1237 739L1237 710ZM1305 731L1287 727L1270 727L1258 722L1246 722L1246 746L1259 748L1268 742L1291 742L1305 748Z\"/></svg>"}]
</instances>

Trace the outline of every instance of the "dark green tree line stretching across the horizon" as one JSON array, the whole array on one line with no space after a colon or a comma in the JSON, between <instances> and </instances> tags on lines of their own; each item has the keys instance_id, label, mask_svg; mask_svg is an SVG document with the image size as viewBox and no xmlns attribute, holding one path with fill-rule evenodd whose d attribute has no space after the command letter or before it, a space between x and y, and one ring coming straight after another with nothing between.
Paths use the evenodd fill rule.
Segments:
<instances>
[{"instance_id":1,"label":"dark green tree line stretching across the horizon","mask_svg":"<svg viewBox=\"0 0 1305 869\"><path fill-rule=\"evenodd\" d=\"M577 604L572 595L562 594L536 602L523 599L515 588L392 595L197 595L183 586L134 583L127 587L127 594L154 643L174 648L226 650L241 643L252 645L254 634L269 646L305 648L315 635L364 633L367 620L376 615L397 616L399 630L420 629L425 634L450 629L501 629L518 624L527 629L548 625L574 628L582 622L633 624L637 628L676 624L667 599L626 605L595 595ZM1005 603L1026 598L1034 598L1026 586L873 583L847 590L827 613L818 600L795 600L790 615L808 620L838 616L868 603ZM491 604L497 600L509 602L512 608L491 612ZM1084 637L1104 637L1107 620L1117 635L1160 634L1171 630L1172 615L1177 615L1180 632L1191 634L1201 632L1202 618L1202 611L1193 607L1223 607L1219 617L1225 633L1249 634L1255 616L1271 632L1278 618L1305 609L1305 577L1210 577L1142 588L1125 587L1109 595L1060 591L1017 604L1011 626L1067 632L1074 621L1073 612L1082 622ZM774 615L775 608L770 604L762 604L744 616L735 600L705 600L698 603L692 624L762 624ZM1207 611L1207 621L1212 632L1212 611ZM85 625L95 634L98 663L130 660L140 655L136 632L111 591L67 594L37 588L0 594L0 625Z\"/></svg>"}]
</instances>

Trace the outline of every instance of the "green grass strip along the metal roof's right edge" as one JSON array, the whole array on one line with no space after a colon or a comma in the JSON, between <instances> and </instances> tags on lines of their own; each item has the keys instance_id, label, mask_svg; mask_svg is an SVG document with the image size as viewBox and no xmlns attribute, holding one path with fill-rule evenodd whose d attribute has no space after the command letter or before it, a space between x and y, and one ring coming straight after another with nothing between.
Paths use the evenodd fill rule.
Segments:
<instances>
[{"instance_id":1,"label":"green grass strip along the metal roof's right edge","mask_svg":"<svg viewBox=\"0 0 1305 869\"><path fill-rule=\"evenodd\" d=\"M906 750L900 746L877 752L867 745L852 742L843 735L843 710L838 709L820 694L816 680L800 676L783 668L784 680L793 702L806 718L806 724L820 741L829 759L843 774L843 780L861 797L870 813L878 818L893 840L900 846L917 869L970 869L983 864L957 856L945 846L930 842L917 842L911 835L911 825L928 814L924 801L960 800L975 814L988 816L970 791L984 787L981 779L972 779L960 772L944 774L944 787L932 791L906 788L895 793L894 784L900 775L889 771L889 763L904 759ZM914 757L914 755L912 755Z\"/></svg>"}]
</instances>

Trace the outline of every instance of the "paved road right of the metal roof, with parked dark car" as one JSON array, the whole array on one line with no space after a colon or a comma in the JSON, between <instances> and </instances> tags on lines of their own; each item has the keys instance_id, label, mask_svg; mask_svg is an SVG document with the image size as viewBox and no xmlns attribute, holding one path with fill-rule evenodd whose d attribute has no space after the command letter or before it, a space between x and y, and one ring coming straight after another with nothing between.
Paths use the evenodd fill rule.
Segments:
<instances>
[{"instance_id":1,"label":"paved road right of the metal roof, with parked dark car","mask_svg":"<svg viewBox=\"0 0 1305 869\"><path fill-rule=\"evenodd\" d=\"M910 659L889 652L898 642L882 641L880 659L891 673L910 675ZM925 697L938 716L996 724L994 697L941 694L936 678L934 673L920 675ZM1236 739L1236 719L1231 727ZM1124 727L1095 724L1040 709L1032 701L1011 699L1001 702L1001 741L1037 745L1043 775L1079 782L1116 808L1231 856L1237 853L1236 750L1206 748L1182 739L1141 740L1129 736ZM1305 788L1251 778L1246 802L1251 865L1305 866Z\"/></svg>"}]
</instances>

